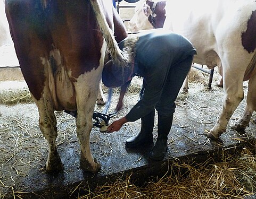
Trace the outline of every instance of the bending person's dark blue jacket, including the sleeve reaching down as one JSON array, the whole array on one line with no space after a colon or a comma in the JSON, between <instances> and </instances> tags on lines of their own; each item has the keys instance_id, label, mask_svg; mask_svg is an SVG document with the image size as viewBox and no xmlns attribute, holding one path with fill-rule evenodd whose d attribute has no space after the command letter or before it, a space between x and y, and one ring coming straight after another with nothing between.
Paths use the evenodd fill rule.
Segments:
<instances>
[{"instance_id":1,"label":"bending person's dark blue jacket, including the sleeve reaching down","mask_svg":"<svg viewBox=\"0 0 256 199\"><path fill-rule=\"evenodd\" d=\"M140 33L135 45L134 76L144 77L141 100L126 115L129 122L146 116L159 101L170 67L196 54L191 42L180 34L162 29ZM179 74L177 74L179 75Z\"/></svg>"}]
</instances>

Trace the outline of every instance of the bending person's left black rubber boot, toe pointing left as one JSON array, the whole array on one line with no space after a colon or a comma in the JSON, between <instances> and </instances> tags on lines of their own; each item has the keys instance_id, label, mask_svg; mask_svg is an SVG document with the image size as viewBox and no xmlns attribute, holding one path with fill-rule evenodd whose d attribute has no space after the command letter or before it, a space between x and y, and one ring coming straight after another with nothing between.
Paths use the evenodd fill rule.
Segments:
<instances>
[{"instance_id":1,"label":"bending person's left black rubber boot, toe pointing left","mask_svg":"<svg viewBox=\"0 0 256 199\"><path fill-rule=\"evenodd\" d=\"M126 140L127 148L141 148L146 145L153 144L153 128L154 128L155 110L150 114L142 117L141 132L134 137L130 137Z\"/></svg>"}]
</instances>

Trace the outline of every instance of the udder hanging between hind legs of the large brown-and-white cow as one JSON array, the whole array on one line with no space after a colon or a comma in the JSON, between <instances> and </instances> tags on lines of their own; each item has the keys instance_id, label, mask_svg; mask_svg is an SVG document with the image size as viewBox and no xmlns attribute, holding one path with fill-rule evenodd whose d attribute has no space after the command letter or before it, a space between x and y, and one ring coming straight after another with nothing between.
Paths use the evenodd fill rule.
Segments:
<instances>
[{"instance_id":1,"label":"udder hanging between hind legs of the large brown-and-white cow","mask_svg":"<svg viewBox=\"0 0 256 199\"><path fill-rule=\"evenodd\" d=\"M54 104L58 105L58 107L54 107L55 110L77 110L75 88L64 67L58 68L55 72L54 82L57 100Z\"/></svg>"}]
</instances>

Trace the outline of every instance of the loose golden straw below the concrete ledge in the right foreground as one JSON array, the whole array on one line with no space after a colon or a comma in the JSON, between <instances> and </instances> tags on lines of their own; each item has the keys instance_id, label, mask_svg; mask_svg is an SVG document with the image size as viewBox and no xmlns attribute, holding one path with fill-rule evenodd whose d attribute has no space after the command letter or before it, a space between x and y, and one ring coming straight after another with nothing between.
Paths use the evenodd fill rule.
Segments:
<instances>
[{"instance_id":1,"label":"loose golden straw below the concrete ledge in the right foreground","mask_svg":"<svg viewBox=\"0 0 256 199\"><path fill-rule=\"evenodd\" d=\"M78 198L244 198L256 191L255 160L255 155L244 149L240 156L222 162L209 159L196 166L175 162L171 169L178 172L143 187L134 185L127 176Z\"/></svg>"}]
</instances>

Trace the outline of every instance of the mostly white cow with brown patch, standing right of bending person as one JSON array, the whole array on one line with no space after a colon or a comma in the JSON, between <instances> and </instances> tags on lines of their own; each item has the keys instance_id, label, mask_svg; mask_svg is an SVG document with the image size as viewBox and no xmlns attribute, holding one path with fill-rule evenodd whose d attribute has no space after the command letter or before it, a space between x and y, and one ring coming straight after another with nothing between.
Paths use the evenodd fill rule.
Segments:
<instances>
[{"instance_id":1,"label":"mostly white cow with brown patch, standing right of bending person","mask_svg":"<svg viewBox=\"0 0 256 199\"><path fill-rule=\"evenodd\" d=\"M224 103L207 136L219 139L244 98L243 81L249 80L246 108L232 126L249 126L256 110L256 2L255 0L167 1L163 28L188 38L197 50L194 62L222 67Z\"/></svg>"}]
</instances>

